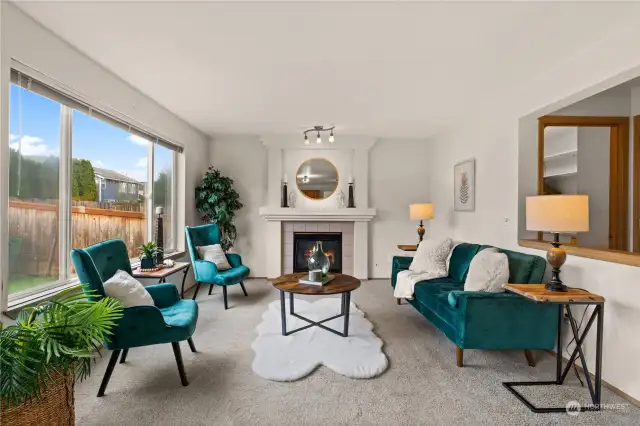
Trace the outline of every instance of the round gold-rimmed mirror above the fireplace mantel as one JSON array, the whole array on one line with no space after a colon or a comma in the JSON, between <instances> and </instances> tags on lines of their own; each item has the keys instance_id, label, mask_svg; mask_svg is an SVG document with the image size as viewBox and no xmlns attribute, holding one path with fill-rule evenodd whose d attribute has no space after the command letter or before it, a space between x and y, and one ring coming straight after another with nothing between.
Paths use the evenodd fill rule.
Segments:
<instances>
[{"instance_id":1,"label":"round gold-rimmed mirror above the fireplace mantel","mask_svg":"<svg viewBox=\"0 0 640 426\"><path fill-rule=\"evenodd\" d=\"M305 197L324 200L338 188L338 170L329 160L312 158L300 165L296 185Z\"/></svg>"}]
</instances>

